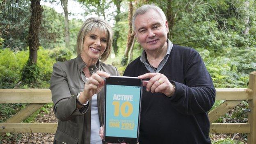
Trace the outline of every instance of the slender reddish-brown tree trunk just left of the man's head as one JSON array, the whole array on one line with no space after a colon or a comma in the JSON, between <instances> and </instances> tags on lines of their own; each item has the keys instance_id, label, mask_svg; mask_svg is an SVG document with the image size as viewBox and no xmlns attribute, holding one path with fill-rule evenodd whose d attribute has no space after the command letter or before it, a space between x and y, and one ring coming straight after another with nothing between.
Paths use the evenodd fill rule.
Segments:
<instances>
[{"instance_id":1,"label":"slender reddish-brown tree trunk just left of the man's head","mask_svg":"<svg viewBox=\"0 0 256 144\"><path fill-rule=\"evenodd\" d=\"M129 10L128 10L129 31L128 31L126 49L124 51L124 55L121 61L122 66L127 64L128 53L133 43L134 32L132 32L132 16L133 16L133 2L130 0Z\"/></svg>"}]
</instances>

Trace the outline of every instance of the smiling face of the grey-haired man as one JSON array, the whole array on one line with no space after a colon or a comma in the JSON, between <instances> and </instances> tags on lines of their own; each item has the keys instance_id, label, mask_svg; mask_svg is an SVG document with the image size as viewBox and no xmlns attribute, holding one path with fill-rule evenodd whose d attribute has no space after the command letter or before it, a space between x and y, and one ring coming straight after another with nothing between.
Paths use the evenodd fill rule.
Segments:
<instances>
[{"instance_id":1,"label":"smiling face of the grey-haired man","mask_svg":"<svg viewBox=\"0 0 256 144\"><path fill-rule=\"evenodd\" d=\"M150 9L145 14L135 18L135 34L144 50L158 50L167 40L168 23L160 14Z\"/></svg>"}]
</instances>

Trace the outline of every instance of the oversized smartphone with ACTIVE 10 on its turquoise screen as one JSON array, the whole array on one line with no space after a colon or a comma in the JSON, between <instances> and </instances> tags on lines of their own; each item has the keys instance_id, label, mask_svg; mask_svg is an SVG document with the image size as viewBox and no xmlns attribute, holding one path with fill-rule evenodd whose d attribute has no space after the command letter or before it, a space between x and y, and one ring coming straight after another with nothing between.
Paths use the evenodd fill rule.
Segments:
<instances>
[{"instance_id":1,"label":"oversized smartphone with ACTIVE 10 on its turquoise screen","mask_svg":"<svg viewBox=\"0 0 256 144\"><path fill-rule=\"evenodd\" d=\"M142 80L110 76L105 79L104 140L108 143L137 144Z\"/></svg>"}]
</instances>

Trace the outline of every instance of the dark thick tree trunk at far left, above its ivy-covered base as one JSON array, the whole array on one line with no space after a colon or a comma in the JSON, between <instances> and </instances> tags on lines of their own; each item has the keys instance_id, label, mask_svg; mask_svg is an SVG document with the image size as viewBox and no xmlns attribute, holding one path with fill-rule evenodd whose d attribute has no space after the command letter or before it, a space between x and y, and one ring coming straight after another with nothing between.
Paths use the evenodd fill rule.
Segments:
<instances>
[{"instance_id":1,"label":"dark thick tree trunk at far left, above its ivy-covered base","mask_svg":"<svg viewBox=\"0 0 256 144\"><path fill-rule=\"evenodd\" d=\"M29 60L37 63L37 50L39 48L39 27L41 25L42 9L40 0L31 0L31 18L29 27L28 46L30 49Z\"/></svg>"}]
</instances>

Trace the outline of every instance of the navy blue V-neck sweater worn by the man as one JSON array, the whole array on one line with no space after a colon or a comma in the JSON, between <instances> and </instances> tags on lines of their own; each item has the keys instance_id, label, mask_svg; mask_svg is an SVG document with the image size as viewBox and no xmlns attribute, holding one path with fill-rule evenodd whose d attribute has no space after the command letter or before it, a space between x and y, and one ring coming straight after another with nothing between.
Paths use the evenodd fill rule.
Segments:
<instances>
[{"instance_id":1,"label":"navy blue V-neck sweater worn by the man","mask_svg":"<svg viewBox=\"0 0 256 144\"><path fill-rule=\"evenodd\" d=\"M149 71L138 57L123 75L144 73ZM199 53L174 45L160 73L176 91L169 98L143 88L139 144L211 144L207 111L215 102L215 88Z\"/></svg>"}]
</instances>

